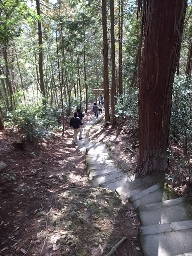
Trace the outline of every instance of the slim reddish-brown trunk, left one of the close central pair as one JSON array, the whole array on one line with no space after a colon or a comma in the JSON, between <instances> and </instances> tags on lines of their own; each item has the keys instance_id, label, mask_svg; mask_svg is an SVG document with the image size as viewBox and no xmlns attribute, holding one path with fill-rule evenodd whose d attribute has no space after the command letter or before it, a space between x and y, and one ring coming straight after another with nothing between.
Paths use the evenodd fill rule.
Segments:
<instances>
[{"instance_id":1,"label":"slim reddish-brown trunk, left one of the close central pair","mask_svg":"<svg viewBox=\"0 0 192 256\"><path fill-rule=\"evenodd\" d=\"M106 0L102 0L102 27L103 27L103 62L104 62L103 79L104 79L105 121L110 121L110 115L109 115L109 67L108 67Z\"/></svg>"}]
</instances>

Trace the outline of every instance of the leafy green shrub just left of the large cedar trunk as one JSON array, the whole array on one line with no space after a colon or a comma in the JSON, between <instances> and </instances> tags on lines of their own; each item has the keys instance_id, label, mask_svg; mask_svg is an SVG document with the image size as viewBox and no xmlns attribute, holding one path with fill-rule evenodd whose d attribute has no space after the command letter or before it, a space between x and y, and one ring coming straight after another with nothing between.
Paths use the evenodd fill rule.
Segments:
<instances>
[{"instance_id":1,"label":"leafy green shrub just left of the large cedar trunk","mask_svg":"<svg viewBox=\"0 0 192 256\"><path fill-rule=\"evenodd\" d=\"M118 95L116 97L116 114L115 116L129 117L129 125L135 126L138 124L139 113L138 113L138 90L131 88L128 94Z\"/></svg>"}]
</instances>

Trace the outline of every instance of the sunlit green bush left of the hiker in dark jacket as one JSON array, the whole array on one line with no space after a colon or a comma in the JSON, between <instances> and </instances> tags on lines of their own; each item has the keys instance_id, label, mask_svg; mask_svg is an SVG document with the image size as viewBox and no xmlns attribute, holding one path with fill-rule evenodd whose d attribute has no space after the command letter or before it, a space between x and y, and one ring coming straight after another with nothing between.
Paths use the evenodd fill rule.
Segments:
<instances>
[{"instance_id":1,"label":"sunlit green bush left of the hiker in dark jacket","mask_svg":"<svg viewBox=\"0 0 192 256\"><path fill-rule=\"evenodd\" d=\"M59 128L61 110L53 109L48 104L42 106L30 105L7 114L7 126L17 128L28 140L39 140L52 135Z\"/></svg>"}]
</instances>

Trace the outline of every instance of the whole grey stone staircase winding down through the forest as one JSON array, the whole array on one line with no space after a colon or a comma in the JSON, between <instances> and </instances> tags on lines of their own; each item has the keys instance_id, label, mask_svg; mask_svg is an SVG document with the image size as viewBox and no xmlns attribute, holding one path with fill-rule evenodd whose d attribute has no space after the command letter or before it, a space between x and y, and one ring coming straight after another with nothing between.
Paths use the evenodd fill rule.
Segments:
<instances>
[{"instance_id":1,"label":"whole grey stone staircase winding down through the forest","mask_svg":"<svg viewBox=\"0 0 192 256\"><path fill-rule=\"evenodd\" d=\"M97 120L100 121L102 116ZM86 137L95 124L85 126ZM142 226L140 242L145 256L192 256L192 207L183 197L164 183L161 174L135 178L114 165L106 144L79 142L78 150L86 152L86 171L93 187L116 191L122 200L129 200L137 209Z\"/></svg>"}]
</instances>

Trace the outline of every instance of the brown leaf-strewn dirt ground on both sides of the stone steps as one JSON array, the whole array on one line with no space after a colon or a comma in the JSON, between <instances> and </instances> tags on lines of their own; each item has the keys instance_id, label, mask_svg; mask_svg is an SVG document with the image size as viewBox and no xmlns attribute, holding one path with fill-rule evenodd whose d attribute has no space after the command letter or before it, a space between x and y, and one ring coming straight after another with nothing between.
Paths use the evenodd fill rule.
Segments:
<instances>
[{"instance_id":1,"label":"brown leaf-strewn dirt ground on both sides of the stone steps","mask_svg":"<svg viewBox=\"0 0 192 256\"><path fill-rule=\"evenodd\" d=\"M85 121L92 117L90 106ZM27 142L25 150L13 147L17 131L0 132L0 161L7 164L0 173L0 256L104 256L123 237L118 255L142 256L137 212L115 192L91 187L85 154L72 143L69 119L65 127L64 137L55 133L48 140ZM102 121L89 136L109 145L120 168L135 168L137 128L126 130L123 119L115 128ZM186 172L175 178L182 152L178 145L172 148L169 174L174 180L168 182L190 199Z\"/></svg>"}]
</instances>

